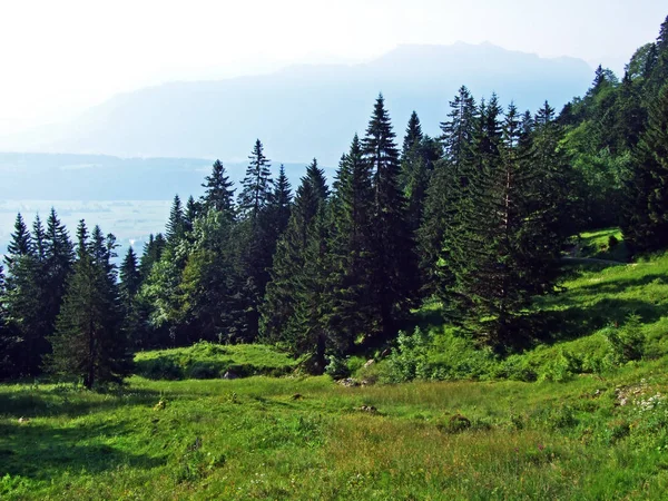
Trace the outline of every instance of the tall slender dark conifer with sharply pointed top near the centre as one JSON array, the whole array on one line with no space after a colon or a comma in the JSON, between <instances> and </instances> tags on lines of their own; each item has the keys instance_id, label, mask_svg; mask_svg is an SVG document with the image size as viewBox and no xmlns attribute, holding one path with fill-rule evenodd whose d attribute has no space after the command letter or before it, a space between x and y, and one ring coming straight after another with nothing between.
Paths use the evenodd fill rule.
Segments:
<instances>
[{"instance_id":1,"label":"tall slender dark conifer with sharply pointed top near the centre","mask_svg":"<svg viewBox=\"0 0 668 501\"><path fill-rule=\"evenodd\" d=\"M416 256L405 216L405 199L399 185L399 150L394 137L380 95L362 141L363 158L372 170L374 190L372 235L376 261L372 279L380 322L373 334L380 342L396 334L399 322L407 313L418 288Z\"/></svg>"}]
</instances>

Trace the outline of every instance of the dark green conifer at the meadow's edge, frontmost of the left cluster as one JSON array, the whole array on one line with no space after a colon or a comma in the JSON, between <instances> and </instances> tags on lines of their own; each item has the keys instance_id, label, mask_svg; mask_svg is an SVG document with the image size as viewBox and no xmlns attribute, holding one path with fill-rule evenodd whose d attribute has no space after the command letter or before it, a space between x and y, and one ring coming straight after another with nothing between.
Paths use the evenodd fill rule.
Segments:
<instances>
[{"instance_id":1,"label":"dark green conifer at the meadow's edge, frontmost of the left cluster","mask_svg":"<svg viewBox=\"0 0 668 501\"><path fill-rule=\"evenodd\" d=\"M108 250L112 242L100 238L99 228L88 242L84 222L78 228L77 261L68 281L48 370L59 376L82 380L88 389L121 382L131 369L127 338L120 328L117 289L110 282Z\"/></svg>"}]
</instances>

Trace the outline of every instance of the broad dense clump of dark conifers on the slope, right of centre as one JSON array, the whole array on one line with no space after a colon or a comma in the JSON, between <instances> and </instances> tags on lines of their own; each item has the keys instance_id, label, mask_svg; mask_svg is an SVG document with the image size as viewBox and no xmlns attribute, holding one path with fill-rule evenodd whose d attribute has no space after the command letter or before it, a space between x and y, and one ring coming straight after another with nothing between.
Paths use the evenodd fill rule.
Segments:
<instances>
[{"instance_id":1,"label":"broad dense clump of dark conifers on the slope, right of centre","mask_svg":"<svg viewBox=\"0 0 668 501\"><path fill-rule=\"evenodd\" d=\"M503 350L523 342L518 320L532 296L554 291L569 185L547 104L531 149L521 143L517 109L501 125L494 97L481 106L477 134L478 161L466 171L456 232L444 238L452 273L444 301L455 322Z\"/></svg>"}]
</instances>

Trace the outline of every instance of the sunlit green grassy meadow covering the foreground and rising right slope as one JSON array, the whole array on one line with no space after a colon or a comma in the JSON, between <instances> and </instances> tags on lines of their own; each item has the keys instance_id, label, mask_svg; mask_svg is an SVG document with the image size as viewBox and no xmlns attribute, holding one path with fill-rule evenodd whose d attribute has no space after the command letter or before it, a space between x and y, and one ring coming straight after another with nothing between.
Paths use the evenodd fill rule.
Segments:
<instances>
[{"instance_id":1,"label":"sunlit green grassy meadow covering the foreground and rising right slope","mask_svg":"<svg viewBox=\"0 0 668 501\"><path fill-rule=\"evenodd\" d=\"M538 383L135 376L112 394L0 386L0 498L665 499L668 256L577 272L566 286L540 306L566 341L512 362L546 374ZM609 350L605 328L631 312L648 360L550 381L564 353L571 372L591 372ZM442 361L479 356L453 346ZM282 356L235 350L237 364ZM471 426L459 430L456 415Z\"/></svg>"}]
</instances>

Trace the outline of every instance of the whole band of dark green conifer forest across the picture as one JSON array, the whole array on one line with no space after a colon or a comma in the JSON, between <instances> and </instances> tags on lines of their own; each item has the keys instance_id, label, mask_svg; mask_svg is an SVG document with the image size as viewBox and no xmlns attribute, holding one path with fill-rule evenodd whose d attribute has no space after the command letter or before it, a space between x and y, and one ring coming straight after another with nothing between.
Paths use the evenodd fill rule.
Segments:
<instances>
[{"instance_id":1,"label":"whole band of dark green conifer forest across the picture","mask_svg":"<svg viewBox=\"0 0 668 501\"><path fill-rule=\"evenodd\" d=\"M567 238L621 224L635 252L668 245L668 20L621 82L602 68L557 116L465 87L442 134L411 116L401 147L383 97L331 186L314 159L294 194L256 141L237 188L216 161L204 195L174 199L164 234L116 268L112 235L55 210L21 216L6 256L4 376L48 370L88 386L136 350L262 341L308 370L387 345L428 298L499 353L532 342L527 311L558 288ZM238 190L238 193L237 193Z\"/></svg>"}]
</instances>

